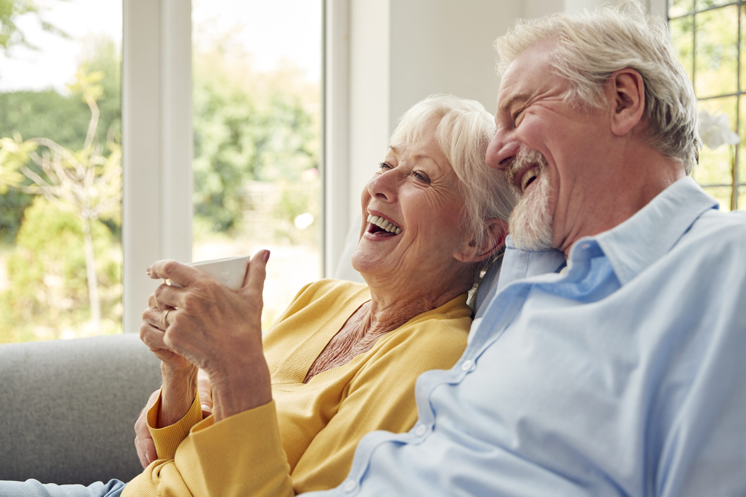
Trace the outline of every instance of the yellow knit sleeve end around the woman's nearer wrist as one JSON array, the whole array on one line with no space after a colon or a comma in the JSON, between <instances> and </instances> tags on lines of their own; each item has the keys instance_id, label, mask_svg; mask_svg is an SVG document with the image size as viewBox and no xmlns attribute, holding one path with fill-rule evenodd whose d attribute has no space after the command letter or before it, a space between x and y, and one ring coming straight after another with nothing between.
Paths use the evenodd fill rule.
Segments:
<instances>
[{"instance_id":1,"label":"yellow knit sleeve end around the woman's nearer wrist","mask_svg":"<svg viewBox=\"0 0 746 497\"><path fill-rule=\"evenodd\" d=\"M198 423L189 436L208 496L295 495L274 401L220 422L213 420L208 417Z\"/></svg>"}]
</instances>

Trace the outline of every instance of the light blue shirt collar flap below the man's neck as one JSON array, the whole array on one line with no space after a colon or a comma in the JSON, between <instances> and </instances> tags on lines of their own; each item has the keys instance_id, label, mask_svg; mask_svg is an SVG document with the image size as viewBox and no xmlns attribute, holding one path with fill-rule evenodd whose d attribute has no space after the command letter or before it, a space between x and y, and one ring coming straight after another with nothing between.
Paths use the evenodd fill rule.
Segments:
<instances>
[{"instance_id":1,"label":"light blue shirt collar flap below the man's neck","mask_svg":"<svg viewBox=\"0 0 746 497\"><path fill-rule=\"evenodd\" d=\"M625 285L668 253L700 215L709 209L718 209L718 201L706 194L691 177L683 177L627 221L599 235L580 240L598 242L619 282ZM571 248L571 260L579 245L576 242Z\"/></svg>"}]
</instances>

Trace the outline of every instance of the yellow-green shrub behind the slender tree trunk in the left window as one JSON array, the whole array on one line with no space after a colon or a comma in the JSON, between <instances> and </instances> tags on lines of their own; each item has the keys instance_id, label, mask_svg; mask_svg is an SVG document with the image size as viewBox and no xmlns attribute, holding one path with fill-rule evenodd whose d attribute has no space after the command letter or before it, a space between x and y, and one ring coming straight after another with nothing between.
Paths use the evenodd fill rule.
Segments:
<instances>
[{"instance_id":1,"label":"yellow-green shrub behind the slender tree trunk in the left window","mask_svg":"<svg viewBox=\"0 0 746 497\"><path fill-rule=\"evenodd\" d=\"M122 275L117 244L107 227L92 225L104 332L121 320ZM0 294L0 343L60 338L90 318L81 221L36 197L25 211L7 259L10 288Z\"/></svg>"}]
</instances>

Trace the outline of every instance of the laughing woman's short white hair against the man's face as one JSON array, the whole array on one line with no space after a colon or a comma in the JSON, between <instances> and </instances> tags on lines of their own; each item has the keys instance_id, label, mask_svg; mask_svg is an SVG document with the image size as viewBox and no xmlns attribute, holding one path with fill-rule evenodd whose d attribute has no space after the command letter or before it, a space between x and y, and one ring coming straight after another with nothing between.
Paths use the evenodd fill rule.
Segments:
<instances>
[{"instance_id":1,"label":"laughing woman's short white hair against the man's face","mask_svg":"<svg viewBox=\"0 0 746 497\"><path fill-rule=\"evenodd\" d=\"M419 141L436 119L436 140L460 180L463 221L477 247L483 247L489 240L486 221L500 218L507 223L518 201L504 174L485 162L487 146L495 136L495 120L475 100L430 95L399 118L389 145Z\"/></svg>"}]
</instances>

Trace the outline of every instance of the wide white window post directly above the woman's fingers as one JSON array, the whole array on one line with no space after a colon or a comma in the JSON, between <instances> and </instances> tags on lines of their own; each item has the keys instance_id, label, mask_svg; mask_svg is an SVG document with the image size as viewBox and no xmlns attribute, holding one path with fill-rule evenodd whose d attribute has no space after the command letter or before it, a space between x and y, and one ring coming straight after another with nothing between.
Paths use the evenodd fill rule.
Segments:
<instances>
[{"instance_id":1,"label":"wide white window post directly above the woman's fingers","mask_svg":"<svg viewBox=\"0 0 746 497\"><path fill-rule=\"evenodd\" d=\"M124 0L122 300L138 332L158 259L192 260L192 2Z\"/></svg>"}]
</instances>

